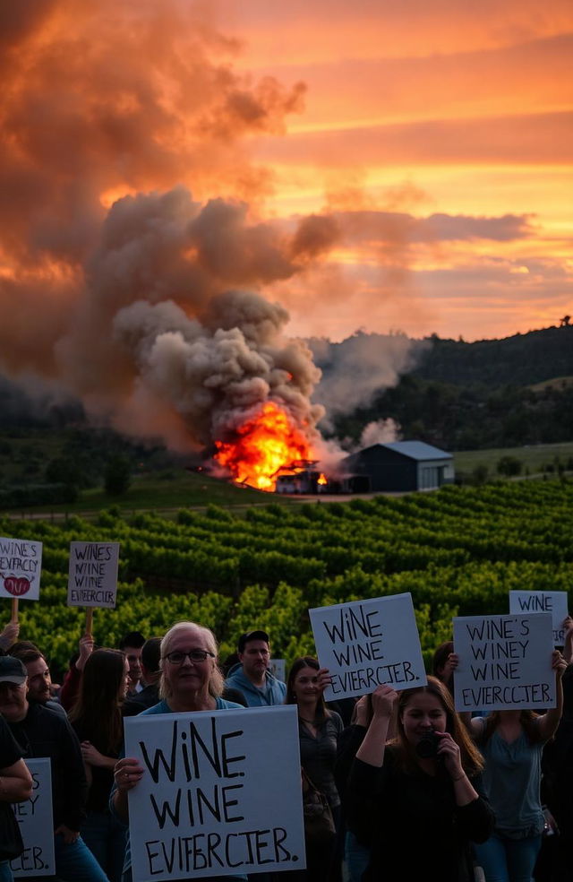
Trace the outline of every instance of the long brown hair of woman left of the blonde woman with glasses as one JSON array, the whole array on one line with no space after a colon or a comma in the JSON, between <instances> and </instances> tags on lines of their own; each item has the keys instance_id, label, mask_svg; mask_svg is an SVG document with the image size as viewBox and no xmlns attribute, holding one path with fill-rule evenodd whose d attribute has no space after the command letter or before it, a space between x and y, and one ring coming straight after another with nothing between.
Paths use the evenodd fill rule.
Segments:
<instances>
[{"instance_id":1,"label":"long brown hair of woman left of the blonde woman with glasses","mask_svg":"<svg viewBox=\"0 0 573 882\"><path fill-rule=\"evenodd\" d=\"M70 712L74 728L105 755L113 755L121 747L124 683L125 653L96 649L85 664L78 700Z\"/></svg>"}]
</instances>

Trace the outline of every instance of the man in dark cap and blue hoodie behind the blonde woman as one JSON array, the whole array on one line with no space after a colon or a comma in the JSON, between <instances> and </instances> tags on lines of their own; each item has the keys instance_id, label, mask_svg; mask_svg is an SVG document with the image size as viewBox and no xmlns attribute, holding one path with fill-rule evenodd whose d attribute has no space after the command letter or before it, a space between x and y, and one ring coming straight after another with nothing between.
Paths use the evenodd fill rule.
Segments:
<instances>
[{"instance_id":1,"label":"man in dark cap and blue hoodie behind the blonde woman","mask_svg":"<svg viewBox=\"0 0 573 882\"><path fill-rule=\"evenodd\" d=\"M238 664L229 670L225 686L242 692L249 707L283 705L286 683L269 671L269 635L266 631L249 631L239 637Z\"/></svg>"}]
</instances>

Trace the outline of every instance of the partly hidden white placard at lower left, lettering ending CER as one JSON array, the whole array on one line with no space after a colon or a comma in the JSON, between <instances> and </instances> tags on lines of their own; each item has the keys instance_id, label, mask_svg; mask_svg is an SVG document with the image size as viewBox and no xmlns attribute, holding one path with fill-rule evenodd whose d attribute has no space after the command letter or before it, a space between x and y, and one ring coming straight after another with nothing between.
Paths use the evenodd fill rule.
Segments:
<instances>
[{"instance_id":1,"label":"partly hidden white placard at lower left, lettering ending CER","mask_svg":"<svg viewBox=\"0 0 573 882\"><path fill-rule=\"evenodd\" d=\"M30 800L13 804L20 824L24 851L10 861L14 878L54 876L54 820L52 817L52 774L49 759L27 759L33 779Z\"/></svg>"}]
</instances>

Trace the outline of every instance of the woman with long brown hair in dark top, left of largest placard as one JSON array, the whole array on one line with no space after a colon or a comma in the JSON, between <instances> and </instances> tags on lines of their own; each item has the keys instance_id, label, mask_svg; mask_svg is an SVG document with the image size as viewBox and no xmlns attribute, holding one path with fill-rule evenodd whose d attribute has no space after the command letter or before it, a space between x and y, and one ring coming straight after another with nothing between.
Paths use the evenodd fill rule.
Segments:
<instances>
[{"instance_id":1,"label":"woman with long brown hair in dark top, left of largest placard","mask_svg":"<svg viewBox=\"0 0 573 882\"><path fill-rule=\"evenodd\" d=\"M108 802L122 746L121 705L128 670L124 653L96 649L85 664L80 694L70 713L90 785L81 836L109 882L119 882L124 868L125 829L110 815Z\"/></svg>"}]
</instances>

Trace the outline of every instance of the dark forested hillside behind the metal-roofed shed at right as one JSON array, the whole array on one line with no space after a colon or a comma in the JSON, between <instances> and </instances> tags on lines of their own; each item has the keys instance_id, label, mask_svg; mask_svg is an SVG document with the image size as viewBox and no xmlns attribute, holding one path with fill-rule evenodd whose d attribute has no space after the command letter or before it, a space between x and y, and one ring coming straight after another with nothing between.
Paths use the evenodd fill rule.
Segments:
<instances>
[{"instance_id":1,"label":"dark forested hillside behind the metal-roofed shed at right","mask_svg":"<svg viewBox=\"0 0 573 882\"><path fill-rule=\"evenodd\" d=\"M335 432L395 419L403 437L449 450L552 444L573 438L573 327L475 343L440 340L394 388L340 415ZM344 343L339 344L343 346ZM328 369L328 368L327 368Z\"/></svg>"}]
</instances>

